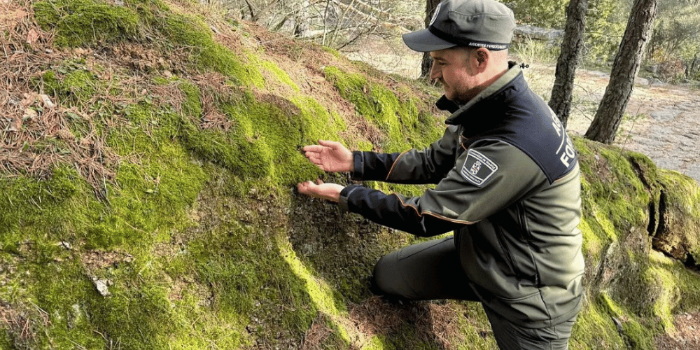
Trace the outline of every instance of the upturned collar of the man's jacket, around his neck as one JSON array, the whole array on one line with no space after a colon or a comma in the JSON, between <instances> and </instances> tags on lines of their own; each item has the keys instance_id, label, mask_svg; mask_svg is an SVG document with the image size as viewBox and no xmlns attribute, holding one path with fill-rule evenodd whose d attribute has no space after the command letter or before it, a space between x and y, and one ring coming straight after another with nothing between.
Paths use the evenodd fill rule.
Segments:
<instances>
[{"instance_id":1,"label":"upturned collar of the man's jacket, around his neck","mask_svg":"<svg viewBox=\"0 0 700 350\"><path fill-rule=\"evenodd\" d=\"M459 106L458 104L455 104L454 102L450 101L442 95L440 99L435 102L435 106L437 106L438 109L441 109L442 111L449 111L451 116L447 118L447 120L444 121L445 124L448 125L459 125L462 124L465 120L465 118L468 118L468 114L470 113L464 113L465 111L474 108L475 106L479 105L482 107L485 107L484 104L479 104L479 102L482 102L486 99L496 99L496 97L499 97L498 95L505 90L505 87L508 87L511 85L511 83L514 83L514 80L517 79L523 80L522 83L524 83L524 78L522 77L522 70L520 69L520 66L517 64L514 64L508 69L503 76L500 76L498 80L493 82L493 84L489 85L484 89L482 92L479 92L474 98L470 99L469 102L464 104L463 106ZM496 102L496 101L491 101L491 102ZM492 106L493 109L497 109L497 106Z\"/></svg>"}]
</instances>

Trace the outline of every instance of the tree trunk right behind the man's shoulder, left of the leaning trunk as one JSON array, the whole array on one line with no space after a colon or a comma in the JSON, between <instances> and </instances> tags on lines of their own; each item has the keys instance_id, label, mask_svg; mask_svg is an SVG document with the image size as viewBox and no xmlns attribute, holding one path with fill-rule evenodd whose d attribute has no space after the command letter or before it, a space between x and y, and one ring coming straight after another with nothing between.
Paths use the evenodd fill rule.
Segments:
<instances>
[{"instance_id":1,"label":"tree trunk right behind the man's shoulder, left of the leaning trunk","mask_svg":"<svg viewBox=\"0 0 700 350\"><path fill-rule=\"evenodd\" d=\"M588 0L571 0L566 8L566 29L561 41L559 59L556 60L552 97L549 99L549 107L552 107L556 116L559 116L564 127L571 110L573 80L576 75L578 56L583 48L587 9Z\"/></svg>"}]
</instances>

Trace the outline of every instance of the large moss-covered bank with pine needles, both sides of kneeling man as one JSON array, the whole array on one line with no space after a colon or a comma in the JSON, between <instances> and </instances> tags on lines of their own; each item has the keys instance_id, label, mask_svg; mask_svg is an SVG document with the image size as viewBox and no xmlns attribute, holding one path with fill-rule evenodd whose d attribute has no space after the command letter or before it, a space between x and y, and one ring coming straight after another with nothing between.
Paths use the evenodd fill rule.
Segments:
<instances>
[{"instance_id":1,"label":"large moss-covered bank with pine needles, both sides of kneeling man","mask_svg":"<svg viewBox=\"0 0 700 350\"><path fill-rule=\"evenodd\" d=\"M1 349L493 349L478 304L371 297L377 258L416 238L295 193L349 183L304 159L317 139L439 137L440 90L198 1L2 6ZM653 349L700 309L699 188L575 142L587 290L571 347Z\"/></svg>"}]
</instances>

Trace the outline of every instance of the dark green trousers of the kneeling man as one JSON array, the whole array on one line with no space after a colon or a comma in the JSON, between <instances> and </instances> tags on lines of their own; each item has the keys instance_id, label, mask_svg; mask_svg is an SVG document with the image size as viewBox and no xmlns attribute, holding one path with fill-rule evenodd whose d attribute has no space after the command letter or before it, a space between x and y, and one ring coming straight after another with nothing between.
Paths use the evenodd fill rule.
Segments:
<instances>
[{"instance_id":1,"label":"dark green trousers of the kneeling man","mask_svg":"<svg viewBox=\"0 0 700 350\"><path fill-rule=\"evenodd\" d=\"M384 255L374 266L374 293L405 300L479 301L459 262L453 237L407 246ZM516 325L484 307L502 350L566 350L575 317L547 328Z\"/></svg>"}]
</instances>

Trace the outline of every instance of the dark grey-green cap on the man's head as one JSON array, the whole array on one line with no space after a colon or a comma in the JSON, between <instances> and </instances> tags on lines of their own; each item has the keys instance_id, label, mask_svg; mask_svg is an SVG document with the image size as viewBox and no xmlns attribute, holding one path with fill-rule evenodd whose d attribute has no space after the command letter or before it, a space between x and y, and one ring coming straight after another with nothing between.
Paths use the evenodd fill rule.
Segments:
<instances>
[{"instance_id":1,"label":"dark grey-green cap on the man's head","mask_svg":"<svg viewBox=\"0 0 700 350\"><path fill-rule=\"evenodd\" d=\"M428 28L403 34L411 50L429 52L454 46L505 50L515 29L513 11L494 0L444 0Z\"/></svg>"}]
</instances>

